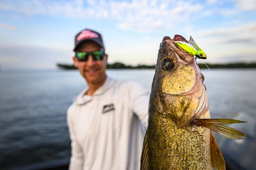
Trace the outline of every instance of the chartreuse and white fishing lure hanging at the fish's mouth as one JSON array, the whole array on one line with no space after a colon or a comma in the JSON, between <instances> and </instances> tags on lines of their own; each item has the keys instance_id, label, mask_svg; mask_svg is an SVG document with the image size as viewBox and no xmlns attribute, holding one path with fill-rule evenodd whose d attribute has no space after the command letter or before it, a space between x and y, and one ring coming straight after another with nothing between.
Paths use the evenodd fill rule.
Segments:
<instances>
[{"instance_id":1,"label":"chartreuse and white fishing lure hanging at the fish's mouth","mask_svg":"<svg viewBox=\"0 0 256 170\"><path fill-rule=\"evenodd\" d=\"M193 40L192 36L190 36L188 42L189 43L177 41L175 43L177 43L177 45L179 45L182 49L186 50L186 52L188 52L189 54L196 56L195 59L197 59L197 58L206 59L207 58L204 51L202 49L200 49L200 47L198 47L198 45Z\"/></svg>"}]
</instances>

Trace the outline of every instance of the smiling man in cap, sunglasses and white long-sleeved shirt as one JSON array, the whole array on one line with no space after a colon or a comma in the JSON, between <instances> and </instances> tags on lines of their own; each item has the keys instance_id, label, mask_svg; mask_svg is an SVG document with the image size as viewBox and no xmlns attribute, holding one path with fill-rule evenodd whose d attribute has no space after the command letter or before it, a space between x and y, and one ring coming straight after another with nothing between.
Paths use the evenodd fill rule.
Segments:
<instances>
[{"instance_id":1,"label":"smiling man in cap, sunglasses and white long-sleeved shirt","mask_svg":"<svg viewBox=\"0 0 256 170\"><path fill-rule=\"evenodd\" d=\"M140 169L149 93L140 84L106 75L108 55L100 33L76 35L74 65L88 88L68 108L70 169Z\"/></svg>"}]
</instances>

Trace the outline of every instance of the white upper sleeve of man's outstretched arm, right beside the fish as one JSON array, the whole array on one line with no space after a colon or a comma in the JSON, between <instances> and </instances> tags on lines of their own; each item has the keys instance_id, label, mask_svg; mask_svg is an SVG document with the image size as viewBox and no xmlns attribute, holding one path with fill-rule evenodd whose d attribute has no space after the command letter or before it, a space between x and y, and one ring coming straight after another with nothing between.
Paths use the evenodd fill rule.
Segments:
<instances>
[{"instance_id":1,"label":"white upper sleeve of man's outstretched arm, right beside the fish","mask_svg":"<svg viewBox=\"0 0 256 170\"><path fill-rule=\"evenodd\" d=\"M148 126L148 102L149 102L149 91L134 82L131 86L131 103L132 112L138 116L143 125L147 128Z\"/></svg>"}]
</instances>

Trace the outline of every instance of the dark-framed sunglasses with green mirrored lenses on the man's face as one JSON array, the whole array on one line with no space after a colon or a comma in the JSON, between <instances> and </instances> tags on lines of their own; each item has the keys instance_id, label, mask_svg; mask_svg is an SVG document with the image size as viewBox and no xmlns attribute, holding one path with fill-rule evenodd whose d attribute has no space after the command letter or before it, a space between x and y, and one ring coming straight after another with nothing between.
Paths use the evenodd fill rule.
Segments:
<instances>
[{"instance_id":1,"label":"dark-framed sunglasses with green mirrored lenses on the man's face","mask_svg":"<svg viewBox=\"0 0 256 170\"><path fill-rule=\"evenodd\" d=\"M88 61L90 55L93 60L99 61L104 58L105 52L102 50L95 50L93 52L76 52L76 58L78 61Z\"/></svg>"}]
</instances>

